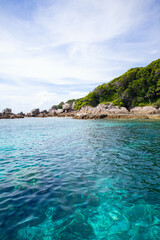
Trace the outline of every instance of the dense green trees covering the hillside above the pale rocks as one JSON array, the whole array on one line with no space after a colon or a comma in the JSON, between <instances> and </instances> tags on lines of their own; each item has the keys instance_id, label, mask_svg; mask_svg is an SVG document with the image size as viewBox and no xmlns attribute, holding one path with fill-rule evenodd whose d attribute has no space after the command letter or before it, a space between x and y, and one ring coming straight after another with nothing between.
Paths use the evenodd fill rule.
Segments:
<instances>
[{"instance_id":1,"label":"dense green trees covering the hillside above the pale rocks","mask_svg":"<svg viewBox=\"0 0 160 240\"><path fill-rule=\"evenodd\" d=\"M160 59L146 67L132 68L107 84L102 84L84 98L75 101L74 109L113 103L127 109L136 106L160 107Z\"/></svg>"}]
</instances>

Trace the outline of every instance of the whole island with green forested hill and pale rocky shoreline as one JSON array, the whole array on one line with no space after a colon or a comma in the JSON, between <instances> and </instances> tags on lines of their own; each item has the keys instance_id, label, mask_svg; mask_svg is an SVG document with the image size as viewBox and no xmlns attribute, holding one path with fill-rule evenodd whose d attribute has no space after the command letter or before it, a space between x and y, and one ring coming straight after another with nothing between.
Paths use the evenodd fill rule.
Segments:
<instances>
[{"instance_id":1,"label":"whole island with green forested hill and pale rocky shoreline","mask_svg":"<svg viewBox=\"0 0 160 240\"><path fill-rule=\"evenodd\" d=\"M87 96L14 114L10 108L0 119L24 117L73 117L75 119L160 119L160 59L146 67L131 68L123 75L96 87Z\"/></svg>"}]
</instances>

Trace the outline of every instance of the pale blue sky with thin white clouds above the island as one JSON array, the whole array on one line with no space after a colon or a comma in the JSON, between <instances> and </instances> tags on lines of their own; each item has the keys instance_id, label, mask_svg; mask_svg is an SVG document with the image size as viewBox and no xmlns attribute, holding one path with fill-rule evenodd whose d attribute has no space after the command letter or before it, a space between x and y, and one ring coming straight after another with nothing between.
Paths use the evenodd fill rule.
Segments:
<instances>
[{"instance_id":1,"label":"pale blue sky with thin white clouds above the island","mask_svg":"<svg viewBox=\"0 0 160 240\"><path fill-rule=\"evenodd\" d=\"M0 0L0 112L49 109L160 57L160 0Z\"/></svg>"}]
</instances>

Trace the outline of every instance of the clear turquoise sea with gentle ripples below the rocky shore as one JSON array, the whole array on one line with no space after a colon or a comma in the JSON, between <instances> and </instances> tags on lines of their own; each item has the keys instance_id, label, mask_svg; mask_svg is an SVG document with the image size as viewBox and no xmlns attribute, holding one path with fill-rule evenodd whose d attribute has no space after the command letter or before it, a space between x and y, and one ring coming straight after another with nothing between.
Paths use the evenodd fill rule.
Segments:
<instances>
[{"instance_id":1,"label":"clear turquoise sea with gentle ripples below the rocky shore","mask_svg":"<svg viewBox=\"0 0 160 240\"><path fill-rule=\"evenodd\" d=\"M0 121L0 239L160 239L160 122Z\"/></svg>"}]
</instances>

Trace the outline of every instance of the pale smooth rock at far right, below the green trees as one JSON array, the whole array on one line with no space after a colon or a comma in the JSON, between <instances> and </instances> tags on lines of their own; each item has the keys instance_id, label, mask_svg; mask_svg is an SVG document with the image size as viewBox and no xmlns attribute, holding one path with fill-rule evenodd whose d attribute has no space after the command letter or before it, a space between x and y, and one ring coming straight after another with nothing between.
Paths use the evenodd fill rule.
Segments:
<instances>
[{"instance_id":1,"label":"pale smooth rock at far right, below the green trees","mask_svg":"<svg viewBox=\"0 0 160 240\"><path fill-rule=\"evenodd\" d=\"M160 109L156 109L153 106L145 106L145 107L134 107L130 110L132 114L159 114Z\"/></svg>"}]
</instances>

